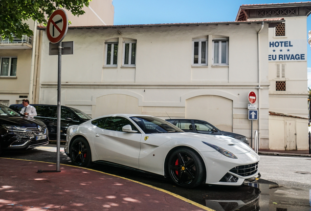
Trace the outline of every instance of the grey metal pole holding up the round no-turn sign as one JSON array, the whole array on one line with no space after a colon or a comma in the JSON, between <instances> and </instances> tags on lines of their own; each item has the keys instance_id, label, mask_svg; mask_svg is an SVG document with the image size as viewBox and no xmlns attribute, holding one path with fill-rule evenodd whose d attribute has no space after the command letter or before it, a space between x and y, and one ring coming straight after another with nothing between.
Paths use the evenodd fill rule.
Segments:
<instances>
[{"instance_id":1,"label":"grey metal pole holding up the round no-turn sign","mask_svg":"<svg viewBox=\"0 0 311 211\"><path fill-rule=\"evenodd\" d=\"M58 43L56 171L60 172L62 42Z\"/></svg>"}]
</instances>

